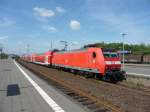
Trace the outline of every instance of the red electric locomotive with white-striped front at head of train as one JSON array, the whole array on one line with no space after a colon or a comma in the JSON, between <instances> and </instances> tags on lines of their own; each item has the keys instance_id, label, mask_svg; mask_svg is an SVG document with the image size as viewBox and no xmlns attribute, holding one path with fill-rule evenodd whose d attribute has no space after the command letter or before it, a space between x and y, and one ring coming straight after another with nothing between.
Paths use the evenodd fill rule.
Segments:
<instances>
[{"instance_id":1,"label":"red electric locomotive with white-striped front at head of train","mask_svg":"<svg viewBox=\"0 0 150 112\"><path fill-rule=\"evenodd\" d=\"M125 79L117 53L101 48L55 52L52 65L113 82Z\"/></svg>"}]
</instances>

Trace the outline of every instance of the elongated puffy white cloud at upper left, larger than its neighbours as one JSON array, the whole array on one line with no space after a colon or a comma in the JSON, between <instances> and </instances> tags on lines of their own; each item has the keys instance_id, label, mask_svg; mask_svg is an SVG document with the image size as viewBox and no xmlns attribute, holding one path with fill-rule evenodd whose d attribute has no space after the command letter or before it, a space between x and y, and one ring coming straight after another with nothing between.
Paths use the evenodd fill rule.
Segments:
<instances>
[{"instance_id":1,"label":"elongated puffy white cloud at upper left, larger than its neighbours","mask_svg":"<svg viewBox=\"0 0 150 112\"><path fill-rule=\"evenodd\" d=\"M49 18L55 15L55 12L53 10L46 8L34 7L33 10L38 16L43 18Z\"/></svg>"}]
</instances>

